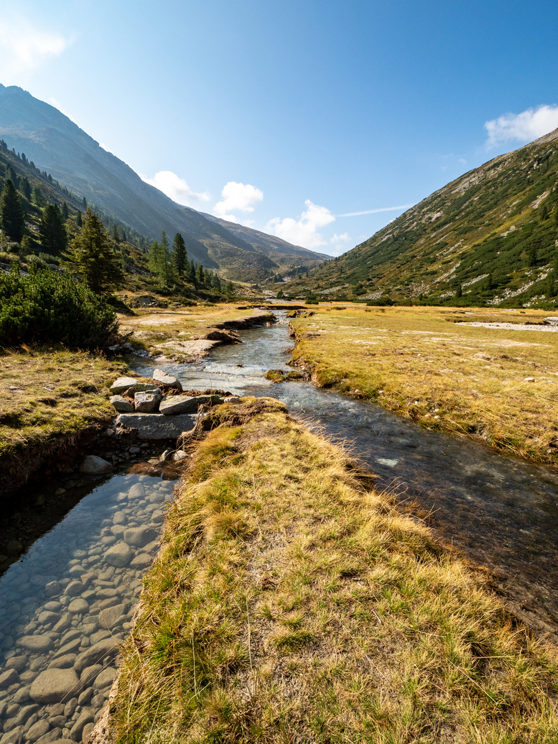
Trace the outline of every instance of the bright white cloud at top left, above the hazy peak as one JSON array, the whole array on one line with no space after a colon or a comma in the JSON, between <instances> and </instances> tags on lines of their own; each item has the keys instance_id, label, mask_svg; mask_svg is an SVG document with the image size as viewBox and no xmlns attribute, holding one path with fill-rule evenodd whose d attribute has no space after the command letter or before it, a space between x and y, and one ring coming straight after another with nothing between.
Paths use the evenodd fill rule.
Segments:
<instances>
[{"instance_id":1,"label":"bright white cloud at top left, above the hazy peak","mask_svg":"<svg viewBox=\"0 0 558 744\"><path fill-rule=\"evenodd\" d=\"M23 19L0 21L0 78L5 84L19 74L40 67L51 57L58 57L72 39L55 31L33 28Z\"/></svg>"}]
</instances>

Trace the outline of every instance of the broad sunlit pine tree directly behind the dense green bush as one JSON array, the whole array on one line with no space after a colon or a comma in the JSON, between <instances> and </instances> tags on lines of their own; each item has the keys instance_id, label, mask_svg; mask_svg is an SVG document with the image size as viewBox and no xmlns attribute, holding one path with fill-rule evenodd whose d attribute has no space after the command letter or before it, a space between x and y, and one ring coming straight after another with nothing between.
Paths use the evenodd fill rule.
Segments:
<instances>
[{"instance_id":1,"label":"broad sunlit pine tree directly behind the dense green bush","mask_svg":"<svg viewBox=\"0 0 558 744\"><path fill-rule=\"evenodd\" d=\"M103 222L88 209L83 228L65 254L65 266L100 294L120 286L124 280L122 265L106 234Z\"/></svg>"}]
</instances>

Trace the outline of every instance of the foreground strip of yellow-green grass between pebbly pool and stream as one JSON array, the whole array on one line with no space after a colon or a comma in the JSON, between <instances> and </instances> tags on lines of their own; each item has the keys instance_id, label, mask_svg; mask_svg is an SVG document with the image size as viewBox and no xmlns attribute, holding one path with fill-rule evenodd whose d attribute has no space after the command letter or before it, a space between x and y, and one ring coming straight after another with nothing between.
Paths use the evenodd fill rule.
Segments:
<instances>
[{"instance_id":1,"label":"foreground strip of yellow-green grass between pebbly pool and stream","mask_svg":"<svg viewBox=\"0 0 558 744\"><path fill-rule=\"evenodd\" d=\"M557 740L556 649L364 482L278 403L209 434L124 647L119 743Z\"/></svg>"}]
</instances>

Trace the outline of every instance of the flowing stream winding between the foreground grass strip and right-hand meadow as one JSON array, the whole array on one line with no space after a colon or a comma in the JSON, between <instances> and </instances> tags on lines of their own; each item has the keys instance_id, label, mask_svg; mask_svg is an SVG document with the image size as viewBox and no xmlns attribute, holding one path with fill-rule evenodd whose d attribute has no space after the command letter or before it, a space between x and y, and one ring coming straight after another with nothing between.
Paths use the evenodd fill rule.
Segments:
<instances>
[{"instance_id":1,"label":"flowing stream winding between the foreground grass strip and right-hand meadow","mask_svg":"<svg viewBox=\"0 0 558 744\"><path fill-rule=\"evenodd\" d=\"M342 442L466 556L487 565L515 609L536 626L558 631L558 474L429 432L379 406L319 390L306 382L274 385L268 369L288 369L285 324L240 332L243 344L217 347L203 365L164 364L188 387L272 396L328 437ZM243 367L237 367L242 364ZM136 370L150 374L153 362Z\"/></svg>"}]
</instances>

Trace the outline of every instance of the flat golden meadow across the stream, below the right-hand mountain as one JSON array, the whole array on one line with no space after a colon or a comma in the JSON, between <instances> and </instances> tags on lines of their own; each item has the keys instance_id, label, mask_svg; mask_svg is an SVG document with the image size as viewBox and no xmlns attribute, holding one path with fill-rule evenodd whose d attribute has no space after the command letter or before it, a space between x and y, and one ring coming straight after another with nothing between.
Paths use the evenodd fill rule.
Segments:
<instances>
[{"instance_id":1,"label":"flat golden meadow across the stream, below the right-hand mountain","mask_svg":"<svg viewBox=\"0 0 558 744\"><path fill-rule=\"evenodd\" d=\"M319 306L292 321L293 359L318 385L373 400L429 429L556 464L558 334L464 324L542 324L545 315Z\"/></svg>"}]
</instances>

